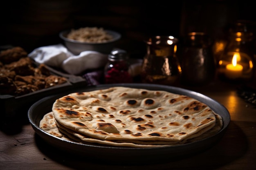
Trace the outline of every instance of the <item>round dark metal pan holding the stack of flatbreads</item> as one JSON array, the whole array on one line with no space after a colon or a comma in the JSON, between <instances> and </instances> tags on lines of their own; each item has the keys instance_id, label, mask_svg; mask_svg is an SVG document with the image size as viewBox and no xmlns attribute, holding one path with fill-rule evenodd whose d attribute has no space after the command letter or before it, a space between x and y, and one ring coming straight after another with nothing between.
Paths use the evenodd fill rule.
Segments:
<instances>
[{"instance_id":1,"label":"round dark metal pan holding the stack of flatbreads","mask_svg":"<svg viewBox=\"0 0 256 170\"><path fill-rule=\"evenodd\" d=\"M161 148L127 148L127 147L113 147L113 146L101 146L98 144L80 144L72 141L67 141L50 135L44 130L39 128L40 120L46 113L52 111L52 104L54 101L68 93L61 93L58 95L53 95L45 97L35 104L33 104L28 111L28 118L32 128L35 130L45 142L48 144L64 150L64 152L74 153L75 155L88 155L88 157L99 160L99 161L113 161L118 163L136 163L142 158L148 163L150 161L163 162L171 159L177 159L179 157L188 156L206 150L207 148L215 145L225 134L227 127L230 123L230 114L225 106L216 102L215 100L202 95L200 93L189 91L184 88L178 88L173 86L156 85L156 84L108 84L108 85L98 85L89 86L80 89L73 89L71 92L83 92L83 91L94 91L104 88L109 88L113 86L126 86L132 88L144 88L148 90L163 90L171 93L177 93L181 95L187 95L198 99L201 102L207 104L213 111L222 116L223 128L211 137L202 139L189 144L181 144L178 146L167 146ZM85 156L86 157L86 156Z\"/></svg>"}]
</instances>

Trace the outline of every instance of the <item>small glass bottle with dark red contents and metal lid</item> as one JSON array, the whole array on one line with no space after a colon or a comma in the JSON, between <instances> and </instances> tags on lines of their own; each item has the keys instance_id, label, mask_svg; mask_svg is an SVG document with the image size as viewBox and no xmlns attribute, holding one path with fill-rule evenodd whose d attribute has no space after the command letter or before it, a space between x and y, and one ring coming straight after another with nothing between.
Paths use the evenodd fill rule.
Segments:
<instances>
[{"instance_id":1,"label":"small glass bottle with dark red contents and metal lid","mask_svg":"<svg viewBox=\"0 0 256 170\"><path fill-rule=\"evenodd\" d=\"M132 83L129 66L129 56L125 50L111 51L105 66L105 84Z\"/></svg>"}]
</instances>

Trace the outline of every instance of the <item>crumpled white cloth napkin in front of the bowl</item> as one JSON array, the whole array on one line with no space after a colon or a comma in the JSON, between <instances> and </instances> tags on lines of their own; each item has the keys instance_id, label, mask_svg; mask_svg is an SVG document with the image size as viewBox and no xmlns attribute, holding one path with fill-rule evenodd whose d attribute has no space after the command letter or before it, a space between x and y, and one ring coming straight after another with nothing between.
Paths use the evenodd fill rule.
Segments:
<instances>
[{"instance_id":1,"label":"crumpled white cloth napkin in front of the bowl","mask_svg":"<svg viewBox=\"0 0 256 170\"><path fill-rule=\"evenodd\" d=\"M74 75L103 67L108 61L108 55L97 51L83 51L79 55L74 55L62 44L39 47L29 53L28 57L40 64L62 68Z\"/></svg>"}]
</instances>

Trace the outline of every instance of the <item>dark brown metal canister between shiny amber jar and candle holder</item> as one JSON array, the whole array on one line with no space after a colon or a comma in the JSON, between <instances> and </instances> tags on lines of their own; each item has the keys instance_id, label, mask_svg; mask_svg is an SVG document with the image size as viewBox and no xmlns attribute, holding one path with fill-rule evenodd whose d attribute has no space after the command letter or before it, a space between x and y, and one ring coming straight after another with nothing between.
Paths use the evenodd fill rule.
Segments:
<instances>
[{"instance_id":1,"label":"dark brown metal canister between shiny amber jar and candle holder","mask_svg":"<svg viewBox=\"0 0 256 170\"><path fill-rule=\"evenodd\" d=\"M202 32L188 33L181 54L181 82L184 85L200 86L216 77L216 61L209 36Z\"/></svg>"}]
</instances>

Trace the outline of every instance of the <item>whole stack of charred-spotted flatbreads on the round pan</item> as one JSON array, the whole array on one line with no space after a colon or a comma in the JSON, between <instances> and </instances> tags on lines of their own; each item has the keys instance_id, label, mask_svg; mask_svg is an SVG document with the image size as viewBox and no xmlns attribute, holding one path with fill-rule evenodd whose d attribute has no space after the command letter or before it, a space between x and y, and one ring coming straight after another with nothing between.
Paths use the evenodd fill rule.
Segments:
<instances>
[{"instance_id":1,"label":"whole stack of charred-spotted flatbreads on the round pan","mask_svg":"<svg viewBox=\"0 0 256 170\"><path fill-rule=\"evenodd\" d=\"M222 125L220 115L186 95L121 86L56 99L40 121L66 140L137 148L199 141Z\"/></svg>"}]
</instances>

